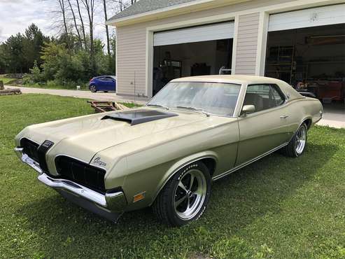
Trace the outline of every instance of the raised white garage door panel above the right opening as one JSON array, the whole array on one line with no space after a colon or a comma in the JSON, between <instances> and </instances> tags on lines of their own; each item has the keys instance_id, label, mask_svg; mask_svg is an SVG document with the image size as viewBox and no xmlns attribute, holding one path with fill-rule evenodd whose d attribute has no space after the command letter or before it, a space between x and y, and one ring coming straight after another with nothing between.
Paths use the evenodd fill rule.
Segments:
<instances>
[{"instance_id":1,"label":"raised white garage door panel above the right opening","mask_svg":"<svg viewBox=\"0 0 345 259\"><path fill-rule=\"evenodd\" d=\"M323 6L269 16L269 31L345 23L345 4Z\"/></svg>"}]
</instances>

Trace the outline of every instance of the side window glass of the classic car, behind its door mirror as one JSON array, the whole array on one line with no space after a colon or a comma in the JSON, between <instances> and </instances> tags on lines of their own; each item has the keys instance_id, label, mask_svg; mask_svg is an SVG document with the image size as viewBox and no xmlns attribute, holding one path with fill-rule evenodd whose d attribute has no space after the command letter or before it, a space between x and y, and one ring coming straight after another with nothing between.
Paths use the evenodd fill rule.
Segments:
<instances>
[{"instance_id":1,"label":"side window glass of the classic car, behind its door mirror","mask_svg":"<svg viewBox=\"0 0 345 259\"><path fill-rule=\"evenodd\" d=\"M248 85L244 105L254 105L264 111L283 104L284 97L277 85Z\"/></svg>"}]
</instances>

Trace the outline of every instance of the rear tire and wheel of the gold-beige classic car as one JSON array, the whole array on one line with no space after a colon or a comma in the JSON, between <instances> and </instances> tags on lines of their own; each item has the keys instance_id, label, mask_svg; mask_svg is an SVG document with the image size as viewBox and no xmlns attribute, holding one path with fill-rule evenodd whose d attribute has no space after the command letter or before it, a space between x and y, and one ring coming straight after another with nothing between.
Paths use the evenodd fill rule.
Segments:
<instances>
[{"instance_id":1,"label":"rear tire and wheel of the gold-beige classic car","mask_svg":"<svg viewBox=\"0 0 345 259\"><path fill-rule=\"evenodd\" d=\"M305 134L304 139L302 139L302 141L304 141L304 144L300 144L301 143L300 134ZM289 144L281 149L283 155L286 155L290 158L297 158L300 155L302 155L302 153L304 152L307 146L307 138L308 138L308 128L307 128L307 125L303 123L298 128L297 132L295 133L293 138L290 140ZM302 146L299 146L299 145L302 145Z\"/></svg>"}]
</instances>

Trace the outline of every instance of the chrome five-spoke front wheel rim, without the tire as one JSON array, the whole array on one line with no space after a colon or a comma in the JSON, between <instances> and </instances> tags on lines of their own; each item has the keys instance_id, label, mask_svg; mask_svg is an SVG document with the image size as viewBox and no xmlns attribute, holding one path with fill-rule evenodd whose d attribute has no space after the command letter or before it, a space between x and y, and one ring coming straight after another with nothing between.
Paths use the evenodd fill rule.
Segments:
<instances>
[{"instance_id":1,"label":"chrome five-spoke front wheel rim, without the tire","mask_svg":"<svg viewBox=\"0 0 345 259\"><path fill-rule=\"evenodd\" d=\"M204 174L191 169L184 174L175 189L174 208L178 218L188 221L202 209L207 192Z\"/></svg>"}]
</instances>

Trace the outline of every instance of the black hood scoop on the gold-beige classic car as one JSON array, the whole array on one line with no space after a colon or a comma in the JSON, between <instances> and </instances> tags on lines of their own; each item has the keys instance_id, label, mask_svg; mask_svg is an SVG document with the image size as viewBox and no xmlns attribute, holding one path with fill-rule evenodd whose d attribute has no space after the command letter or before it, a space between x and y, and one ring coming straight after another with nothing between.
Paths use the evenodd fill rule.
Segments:
<instances>
[{"instance_id":1,"label":"black hood scoop on the gold-beige classic car","mask_svg":"<svg viewBox=\"0 0 345 259\"><path fill-rule=\"evenodd\" d=\"M129 123L130 125L137 125L141 123L148 123L153 120L160 120L164 118L178 116L176 113L167 113L156 110L134 110L134 111L122 111L119 113L113 113L101 118L101 120L120 120Z\"/></svg>"}]
</instances>

